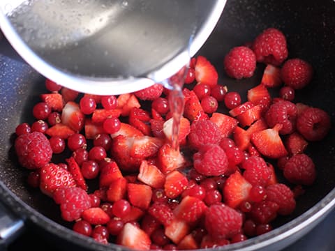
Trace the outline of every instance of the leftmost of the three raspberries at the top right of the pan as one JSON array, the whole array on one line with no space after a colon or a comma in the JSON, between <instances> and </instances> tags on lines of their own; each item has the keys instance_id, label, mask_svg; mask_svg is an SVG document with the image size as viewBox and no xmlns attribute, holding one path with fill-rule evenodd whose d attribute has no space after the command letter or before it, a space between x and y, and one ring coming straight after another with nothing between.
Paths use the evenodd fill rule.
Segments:
<instances>
[{"instance_id":1,"label":"leftmost of the three raspberries at the top right of the pan","mask_svg":"<svg viewBox=\"0 0 335 251\"><path fill-rule=\"evenodd\" d=\"M256 56L248 47L234 47L225 55L223 65L229 77L235 79L251 77L256 68Z\"/></svg>"}]
</instances>

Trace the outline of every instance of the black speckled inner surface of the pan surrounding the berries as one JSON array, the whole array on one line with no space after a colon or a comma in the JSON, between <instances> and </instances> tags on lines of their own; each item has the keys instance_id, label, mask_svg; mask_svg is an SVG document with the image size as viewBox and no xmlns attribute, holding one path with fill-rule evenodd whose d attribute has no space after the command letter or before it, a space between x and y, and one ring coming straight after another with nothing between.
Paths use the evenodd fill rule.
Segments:
<instances>
[{"instance_id":1,"label":"black speckled inner surface of the pan surrounding the berries","mask_svg":"<svg viewBox=\"0 0 335 251\"><path fill-rule=\"evenodd\" d=\"M288 39L289 58L300 57L313 65L313 82L306 89L296 92L295 102L325 109L335 121L335 3L334 1L233 1L223 11L218 26L204 45L200 54L207 56L216 65L220 83L228 86L229 91L246 93L247 89L260 83L264 66L259 65L251 79L234 81L223 73L223 56L230 48L252 41L263 29L276 27L281 29ZM0 44L0 195L4 204L15 213L27 219L28 225L43 229L54 239L62 238L77 247L107 250L89 238L83 238L63 227L59 210L52 199L38 190L26 185L26 170L17 165L13 157L13 132L18 123L31 121L31 108L38 100L38 94L45 91L44 78L23 63L10 50L8 44ZM244 100L245 100L244 96ZM30 118L30 119L29 119ZM318 170L318 178L313 186L306 189L304 196L297 199L297 210L292 216L280 218L275 225L283 225L269 234L253 238L237 246L255 245L260 241L271 241L301 220L311 218L327 203L334 204L335 191L335 133L329 132L327 139L308 145L307 153L313 158ZM319 202L322 198L327 199ZM309 208L312 208L308 211ZM306 213L307 211L307 213ZM300 215L300 217L298 217ZM297 218L298 217L298 218ZM297 219L295 219L297 218ZM50 220L51 219L51 220ZM58 224L57 222L61 223ZM288 224L285 224L289 222ZM304 231L301 231L304 233ZM298 236L299 237L299 236ZM283 241L281 241L283 242ZM276 245L283 248L288 243ZM85 249L86 249L85 248ZM115 248L115 246L113 247ZM229 248L229 247L226 247ZM223 249L226 249L223 248Z\"/></svg>"}]
</instances>

